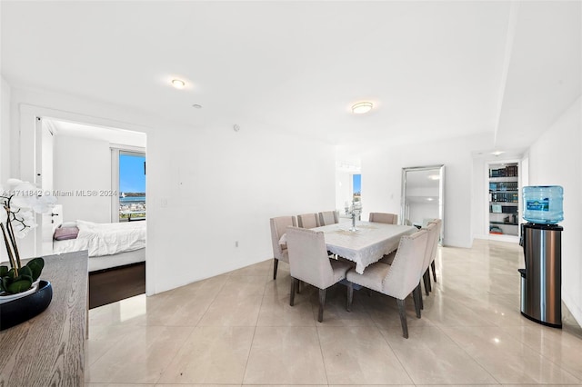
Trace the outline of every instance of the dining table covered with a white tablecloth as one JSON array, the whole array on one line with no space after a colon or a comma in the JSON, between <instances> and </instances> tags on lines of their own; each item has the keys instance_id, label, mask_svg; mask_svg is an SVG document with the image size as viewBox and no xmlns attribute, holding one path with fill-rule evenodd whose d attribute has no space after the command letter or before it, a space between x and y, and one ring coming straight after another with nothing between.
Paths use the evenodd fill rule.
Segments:
<instances>
[{"instance_id":1,"label":"dining table covered with a white tablecloth","mask_svg":"<svg viewBox=\"0 0 582 387\"><path fill-rule=\"evenodd\" d=\"M324 233L326 248L346 260L356 263L356 273L364 273L366 266L376 263L385 254L398 248L400 238L416 233L415 226L376 222L356 222L356 230L351 223L340 222L315 227L311 230ZM286 234L280 243L286 242Z\"/></svg>"}]
</instances>

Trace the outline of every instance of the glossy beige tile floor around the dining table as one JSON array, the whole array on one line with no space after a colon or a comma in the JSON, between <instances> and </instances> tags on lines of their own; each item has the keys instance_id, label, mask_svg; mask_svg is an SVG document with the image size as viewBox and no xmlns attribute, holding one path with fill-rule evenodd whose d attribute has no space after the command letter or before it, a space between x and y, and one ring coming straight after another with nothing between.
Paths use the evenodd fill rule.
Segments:
<instances>
[{"instance_id":1,"label":"glossy beige tile floor around the dining table","mask_svg":"<svg viewBox=\"0 0 582 387\"><path fill-rule=\"evenodd\" d=\"M290 307L289 272L272 262L91 310L88 386L582 385L582 339L519 313L515 243L444 247L438 283L410 338L396 303L346 287L328 291L317 323L311 287Z\"/></svg>"}]
</instances>

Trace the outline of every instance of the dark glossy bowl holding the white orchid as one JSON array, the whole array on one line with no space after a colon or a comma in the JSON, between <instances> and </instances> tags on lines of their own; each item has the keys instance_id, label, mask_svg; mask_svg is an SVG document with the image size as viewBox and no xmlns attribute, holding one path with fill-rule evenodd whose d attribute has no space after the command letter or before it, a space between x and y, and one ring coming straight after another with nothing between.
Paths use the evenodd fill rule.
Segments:
<instances>
[{"instance_id":1,"label":"dark glossy bowl holding the white orchid","mask_svg":"<svg viewBox=\"0 0 582 387\"><path fill-rule=\"evenodd\" d=\"M48 281L41 281L35 293L0 303L0 331L24 323L44 312L52 299L53 286Z\"/></svg>"}]
</instances>

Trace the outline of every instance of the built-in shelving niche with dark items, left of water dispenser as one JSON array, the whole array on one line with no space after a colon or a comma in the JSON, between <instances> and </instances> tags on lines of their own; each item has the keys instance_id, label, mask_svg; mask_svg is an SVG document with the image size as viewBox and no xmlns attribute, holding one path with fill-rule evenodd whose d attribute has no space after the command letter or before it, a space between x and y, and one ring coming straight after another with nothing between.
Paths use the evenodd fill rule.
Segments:
<instances>
[{"instance_id":1,"label":"built-in shelving niche with dark items, left of water dispenser","mask_svg":"<svg viewBox=\"0 0 582 387\"><path fill-rule=\"evenodd\" d=\"M519 234L517 163L489 164L489 234Z\"/></svg>"}]
</instances>

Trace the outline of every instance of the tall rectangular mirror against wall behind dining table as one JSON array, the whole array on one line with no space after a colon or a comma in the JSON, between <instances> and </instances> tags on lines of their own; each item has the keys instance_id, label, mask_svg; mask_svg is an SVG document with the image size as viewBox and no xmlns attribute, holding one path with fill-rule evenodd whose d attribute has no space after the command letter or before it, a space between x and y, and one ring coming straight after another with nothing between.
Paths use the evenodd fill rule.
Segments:
<instances>
[{"instance_id":1,"label":"tall rectangular mirror against wall behind dining table","mask_svg":"<svg viewBox=\"0 0 582 387\"><path fill-rule=\"evenodd\" d=\"M401 223L422 226L425 219L442 219L442 243L445 236L444 187L444 164L402 168Z\"/></svg>"}]
</instances>

